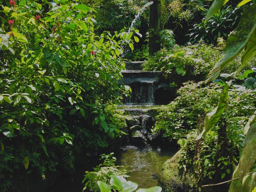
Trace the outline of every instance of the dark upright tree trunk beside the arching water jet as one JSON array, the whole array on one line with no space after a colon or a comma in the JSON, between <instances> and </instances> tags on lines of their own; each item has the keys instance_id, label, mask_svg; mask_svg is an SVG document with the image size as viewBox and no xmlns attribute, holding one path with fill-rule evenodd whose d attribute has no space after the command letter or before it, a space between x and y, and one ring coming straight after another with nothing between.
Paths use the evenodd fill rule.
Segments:
<instances>
[{"instance_id":1,"label":"dark upright tree trunk beside the arching water jet","mask_svg":"<svg viewBox=\"0 0 256 192\"><path fill-rule=\"evenodd\" d=\"M148 52L149 55L153 55L155 52L161 49L160 42L160 2L159 0L154 0L154 3L150 6L150 16L149 16L149 38L148 38Z\"/></svg>"}]
</instances>

